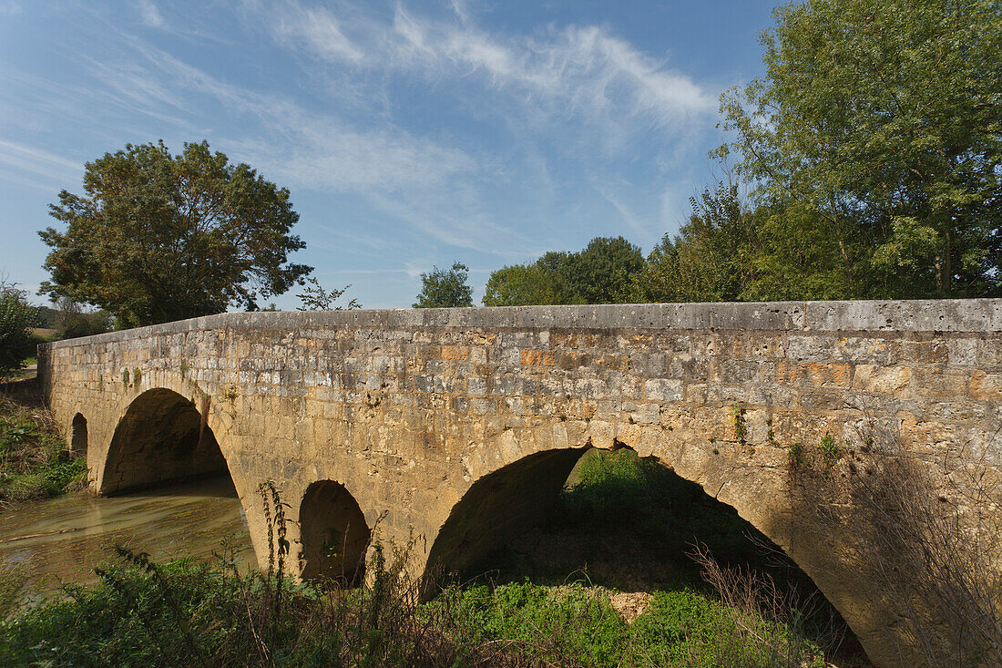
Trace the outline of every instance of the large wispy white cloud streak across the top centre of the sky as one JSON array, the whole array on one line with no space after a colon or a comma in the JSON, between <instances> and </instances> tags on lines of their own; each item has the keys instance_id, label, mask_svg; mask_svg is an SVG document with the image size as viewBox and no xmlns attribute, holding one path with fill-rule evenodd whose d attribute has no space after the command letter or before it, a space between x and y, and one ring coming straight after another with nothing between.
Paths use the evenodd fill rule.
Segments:
<instances>
[{"instance_id":1,"label":"large wispy white cloud streak across the top centre of the sky","mask_svg":"<svg viewBox=\"0 0 1002 668\"><path fill-rule=\"evenodd\" d=\"M514 96L537 119L568 115L616 134L651 126L680 131L715 110L714 95L629 42L597 26L567 26L544 35L511 36L476 27L453 2L456 19L431 19L397 5L392 23L336 16L324 8L269 7L281 42L333 63L403 71L431 81L482 80ZM346 34L352 34L349 40Z\"/></svg>"}]
</instances>

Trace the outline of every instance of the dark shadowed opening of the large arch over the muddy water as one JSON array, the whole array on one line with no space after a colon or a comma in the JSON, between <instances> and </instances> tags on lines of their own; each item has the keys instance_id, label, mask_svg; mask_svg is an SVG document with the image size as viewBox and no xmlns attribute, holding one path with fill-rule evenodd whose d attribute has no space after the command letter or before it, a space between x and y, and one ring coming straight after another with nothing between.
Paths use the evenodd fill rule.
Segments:
<instances>
[{"instance_id":1,"label":"dark shadowed opening of the large arch over the muddy water","mask_svg":"<svg viewBox=\"0 0 1002 668\"><path fill-rule=\"evenodd\" d=\"M101 494L229 474L225 457L195 405L173 390L146 390L129 404L108 447Z\"/></svg>"}]
</instances>

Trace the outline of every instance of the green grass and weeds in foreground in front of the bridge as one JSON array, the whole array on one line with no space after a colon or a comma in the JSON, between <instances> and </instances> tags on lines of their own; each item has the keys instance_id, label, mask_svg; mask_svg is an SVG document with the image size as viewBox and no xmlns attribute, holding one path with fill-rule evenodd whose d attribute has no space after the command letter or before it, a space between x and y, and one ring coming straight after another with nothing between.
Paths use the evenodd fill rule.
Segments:
<instances>
[{"instance_id":1,"label":"green grass and weeds in foreground in front of the bridge","mask_svg":"<svg viewBox=\"0 0 1002 668\"><path fill-rule=\"evenodd\" d=\"M381 553L380 553L381 554ZM824 666L782 621L692 591L656 592L627 624L571 583L443 590L419 603L407 552L355 589L239 573L231 559L150 564L120 551L94 587L0 623L10 666ZM277 605L281 601L282 605Z\"/></svg>"}]
</instances>

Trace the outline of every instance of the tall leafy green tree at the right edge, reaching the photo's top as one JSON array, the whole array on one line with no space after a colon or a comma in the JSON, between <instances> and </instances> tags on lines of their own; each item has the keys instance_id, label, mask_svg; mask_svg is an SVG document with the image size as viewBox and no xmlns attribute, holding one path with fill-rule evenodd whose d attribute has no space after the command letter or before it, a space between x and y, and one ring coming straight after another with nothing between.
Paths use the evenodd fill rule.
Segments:
<instances>
[{"instance_id":1,"label":"tall leafy green tree at the right edge, reaching the photo's top","mask_svg":"<svg viewBox=\"0 0 1002 668\"><path fill-rule=\"evenodd\" d=\"M735 139L717 151L738 155L774 228L831 241L852 297L1002 294L998 3L808 0L775 15L766 77L721 98Z\"/></svg>"}]
</instances>

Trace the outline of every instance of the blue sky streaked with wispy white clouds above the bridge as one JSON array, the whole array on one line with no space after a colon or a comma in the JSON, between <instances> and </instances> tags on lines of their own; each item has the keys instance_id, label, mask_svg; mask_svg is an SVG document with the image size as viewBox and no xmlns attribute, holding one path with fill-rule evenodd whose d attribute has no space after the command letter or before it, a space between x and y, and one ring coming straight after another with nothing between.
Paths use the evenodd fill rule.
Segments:
<instances>
[{"instance_id":1,"label":"blue sky streaked with wispy white clouds above the bridge","mask_svg":"<svg viewBox=\"0 0 1002 668\"><path fill-rule=\"evenodd\" d=\"M366 308L456 260L479 303L548 250L647 252L711 180L718 96L762 74L777 4L0 0L0 268L36 288L57 193L160 138L289 188L293 259Z\"/></svg>"}]
</instances>

